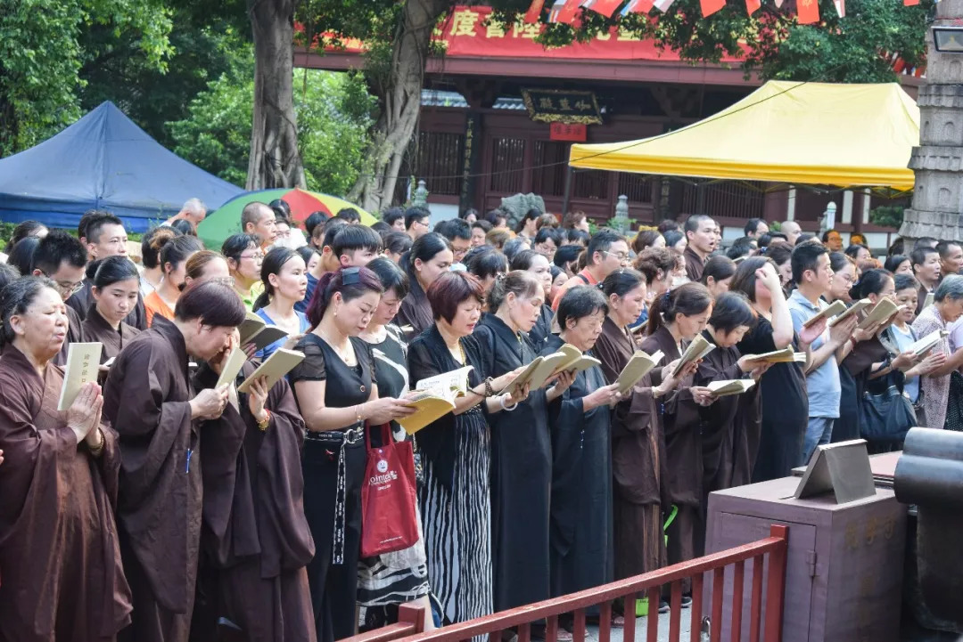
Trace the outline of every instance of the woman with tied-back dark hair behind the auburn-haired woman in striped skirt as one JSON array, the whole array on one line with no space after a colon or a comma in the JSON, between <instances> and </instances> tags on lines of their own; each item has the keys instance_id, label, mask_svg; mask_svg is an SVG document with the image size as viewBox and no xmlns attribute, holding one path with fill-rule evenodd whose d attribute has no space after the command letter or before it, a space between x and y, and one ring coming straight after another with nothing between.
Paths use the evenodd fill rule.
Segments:
<instances>
[{"instance_id":1,"label":"woman with tied-back dark hair behind the auburn-haired woman in striped skirt","mask_svg":"<svg viewBox=\"0 0 963 642\"><path fill-rule=\"evenodd\" d=\"M419 236L403 255L400 265L407 272L411 289L398 310L397 323L409 339L431 325L431 305L425 293L435 279L448 271L454 260L452 243L434 232Z\"/></svg>"}]
</instances>

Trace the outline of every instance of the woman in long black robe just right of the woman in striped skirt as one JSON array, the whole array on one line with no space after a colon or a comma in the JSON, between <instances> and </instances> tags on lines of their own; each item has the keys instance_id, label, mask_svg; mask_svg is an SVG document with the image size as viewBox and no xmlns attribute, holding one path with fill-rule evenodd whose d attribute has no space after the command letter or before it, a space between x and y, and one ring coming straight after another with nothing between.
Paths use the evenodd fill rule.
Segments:
<instances>
[{"instance_id":1,"label":"woman in long black robe just right of the woman in striped skirt","mask_svg":"<svg viewBox=\"0 0 963 642\"><path fill-rule=\"evenodd\" d=\"M537 357L526 333L545 300L541 281L516 270L495 282L489 313L475 336L487 359L485 372L501 376ZM492 417L492 537L495 609L548 599L549 497L552 443L546 403L572 383L568 373L548 392L533 390L510 413Z\"/></svg>"}]
</instances>

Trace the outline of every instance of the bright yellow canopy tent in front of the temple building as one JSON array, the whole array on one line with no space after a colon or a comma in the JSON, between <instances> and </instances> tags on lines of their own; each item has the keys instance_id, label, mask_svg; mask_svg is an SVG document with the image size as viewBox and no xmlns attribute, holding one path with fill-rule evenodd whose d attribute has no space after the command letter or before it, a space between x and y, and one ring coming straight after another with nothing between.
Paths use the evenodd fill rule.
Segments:
<instances>
[{"instance_id":1,"label":"bright yellow canopy tent in front of the temple building","mask_svg":"<svg viewBox=\"0 0 963 642\"><path fill-rule=\"evenodd\" d=\"M569 165L776 183L913 188L920 110L896 84L769 81L661 136L572 145Z\"/></svg>"}]
</instances>

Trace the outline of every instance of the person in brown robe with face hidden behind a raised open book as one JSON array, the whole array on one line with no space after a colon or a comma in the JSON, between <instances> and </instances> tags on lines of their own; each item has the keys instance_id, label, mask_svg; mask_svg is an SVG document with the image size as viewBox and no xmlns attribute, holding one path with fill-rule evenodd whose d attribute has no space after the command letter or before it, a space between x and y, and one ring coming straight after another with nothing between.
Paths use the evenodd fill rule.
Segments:
<instances>
[{"instance_id":1,"label":"person in brown robe with face hidden behind a raised open book","mask_svg":"<svg viewBox=\"0 0 963 642\"><path fill-rule=\"evenodd\" d=\"M235 384L254 370L248 361ZM203 364L195 388L213 388L218 377L215 367ZM216 424L223 424L222 430L211 430ZM303 442L304 422L284 379L270 389L265 378L259 379L248 393L238 393L236 407L232 402L220 419L204 424L198 583L207 589L207 630L222 617L249 642L315 641L305 570L314 541L304 517ZM222 473L226 483L212 479ZM195 632L203 627L195 624Z\"/></svg>"}]
</instances>

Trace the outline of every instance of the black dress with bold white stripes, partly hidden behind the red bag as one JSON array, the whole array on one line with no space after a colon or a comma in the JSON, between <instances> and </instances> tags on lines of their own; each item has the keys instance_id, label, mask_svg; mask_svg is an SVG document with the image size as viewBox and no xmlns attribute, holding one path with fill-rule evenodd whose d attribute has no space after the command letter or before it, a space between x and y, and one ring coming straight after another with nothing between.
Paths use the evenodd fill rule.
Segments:
<instances>
[{"instance_id":1,"label":"black dress with bold white stripes, partly hidden behind the red bag","mask_svg":"<svg viewBox=\"0 0 963 642\"><path fill-rule=\"evenodd\" d=\"M384 339L368 343L375 356L378 397L401 397L408 391L407 347L402 331L394 325L385 327ZM392 422L395 440L410 439L403 428ZM379 438L372 434L374 440ZM425 541L414 546L358 562L358 602L368 608L400 605L429 594Z\"/></svg>"}]
</instances>

